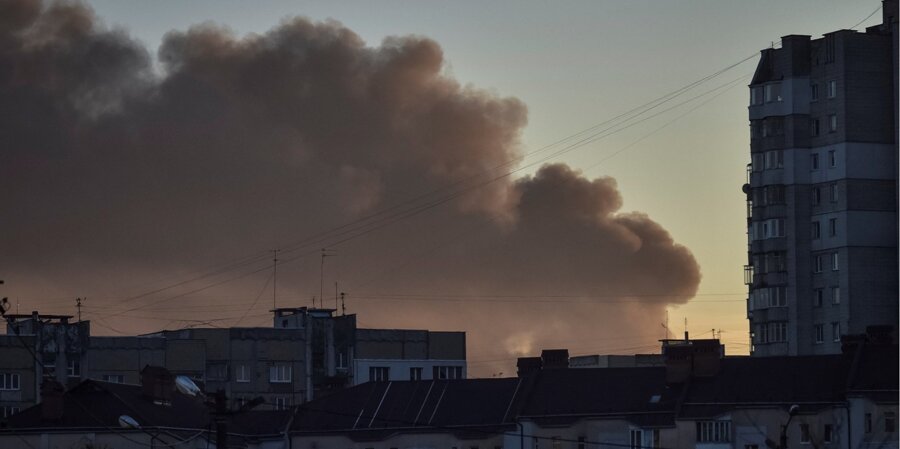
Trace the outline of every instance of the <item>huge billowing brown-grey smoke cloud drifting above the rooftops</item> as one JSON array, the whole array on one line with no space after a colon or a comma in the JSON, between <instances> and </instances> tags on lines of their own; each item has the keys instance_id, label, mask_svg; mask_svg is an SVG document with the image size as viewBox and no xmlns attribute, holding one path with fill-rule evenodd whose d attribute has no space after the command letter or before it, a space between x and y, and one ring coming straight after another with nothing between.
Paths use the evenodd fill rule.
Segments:
<instances>
[{"instance_id":1,"label":"huge billowing brown-grey smoke cloud drifting above the rooftops","mask_svg":"<svg viewBox=\"0 0 900 449\"><path fill-rule=\"evenodd\" d=\"M0 274L24 309L88 296L116 329L231 325L271 295L281 248L279 306L323 290L333 306L339 282L365 326L466 330L477 374L547 347L649 351L699 284L690 251L620 212L613 179L498 176L525 105L461 86L427 38L202 25L152 61L84 6L0 0ZM225 266L248 254L261 265Z\"/></svg>"}]
</instances>

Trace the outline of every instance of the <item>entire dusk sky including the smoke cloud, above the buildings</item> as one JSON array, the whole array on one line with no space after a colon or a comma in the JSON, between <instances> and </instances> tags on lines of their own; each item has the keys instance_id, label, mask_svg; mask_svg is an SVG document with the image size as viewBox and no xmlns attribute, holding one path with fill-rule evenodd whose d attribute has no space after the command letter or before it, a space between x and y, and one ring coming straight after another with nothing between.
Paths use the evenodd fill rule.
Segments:
<instances>
[{"instance_id":1,"label":"entire dusk sky including the smoke cloud, above the buildings","mask_svg":"<svg viewBox=\"0 0 900 449\"><path fill-rule=\"evenodd\" d=\"M483 376L745 354L753 56L879 4L0 1L0 294L116 335L337 289Z\"/></svg>"}]
</instances>

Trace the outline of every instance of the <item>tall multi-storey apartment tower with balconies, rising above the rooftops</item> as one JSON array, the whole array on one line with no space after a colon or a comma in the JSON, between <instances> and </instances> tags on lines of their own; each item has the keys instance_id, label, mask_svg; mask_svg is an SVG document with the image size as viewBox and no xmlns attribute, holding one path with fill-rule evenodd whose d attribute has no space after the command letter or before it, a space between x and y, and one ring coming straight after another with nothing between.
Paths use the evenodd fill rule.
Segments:
<instances>
[{"instance_id":1,"label":"tall multi-storey apartment tower with balconies, rising above the rooftops","mask_svg":"<svg viewBox=\"0 0 900 449\"><path fill-rule=\"evenodd\" d=\"M762 51L750 84L753 355L897 326L897 1L883 24Z\"/></svg>"}]
</instances>

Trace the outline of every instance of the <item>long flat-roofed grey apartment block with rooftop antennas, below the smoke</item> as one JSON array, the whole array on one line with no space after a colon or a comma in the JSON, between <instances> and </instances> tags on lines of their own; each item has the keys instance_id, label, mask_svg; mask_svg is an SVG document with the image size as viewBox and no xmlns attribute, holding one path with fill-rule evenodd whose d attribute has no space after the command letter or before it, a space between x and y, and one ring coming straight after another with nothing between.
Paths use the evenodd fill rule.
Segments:
<instances>
[{"instance_id":1,"label":"long flat-roofed grey apartment block with rooftop antennas, below the smoke","mask_svg":"<svg viewBox=\"0 0 900 449\"><path fill-rule=\"evenodd\" d=\"M464 332L357 329L355 315L306 307L273 311L273 327L194 328L139 336L91 336L69 316L11 316L0 335L0 418L36 404L42 380L85 379L137 385L141 370L164 367L233 407L256 399L288 409L335 390L376 380L461 379ZM38 363L32 352L41 360ZM381 377L379 377L381 376Z\"/></svg>"}]
</instances>

